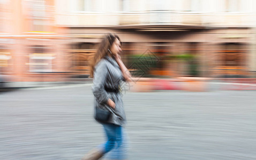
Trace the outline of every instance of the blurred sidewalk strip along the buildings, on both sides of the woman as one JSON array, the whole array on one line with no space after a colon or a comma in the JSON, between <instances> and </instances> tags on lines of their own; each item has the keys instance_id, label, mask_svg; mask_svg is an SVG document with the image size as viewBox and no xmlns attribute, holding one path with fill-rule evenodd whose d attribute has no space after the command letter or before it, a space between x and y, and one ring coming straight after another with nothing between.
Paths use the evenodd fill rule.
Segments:
<instances>
[{"instance_id":1,"label":"blurred sidewalk strip along the buildings, on both sides of the woman","mask_svg":"<svg viewBox=\"0 0 256 160\"><path fill-rule=\"evenodd\" d=\"M10 82L7 89L61 87L77 84L91 84L92 78L65 82ZM134 78L130 84L123 84L124 91L150 92L157 90L184 90L205 92L212 90L256 90L256 79L251 78Z\"/></svg>"}]
</instances>

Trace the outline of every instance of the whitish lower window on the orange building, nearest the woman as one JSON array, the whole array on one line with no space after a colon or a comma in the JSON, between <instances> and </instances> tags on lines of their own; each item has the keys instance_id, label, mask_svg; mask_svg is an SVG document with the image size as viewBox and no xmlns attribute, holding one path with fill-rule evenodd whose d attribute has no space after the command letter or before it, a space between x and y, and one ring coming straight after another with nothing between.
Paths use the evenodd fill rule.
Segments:
<instances>
[{"instance_id":1,"label":"whitish lower window on the orange building, nearest the woman","mask_svg":"<svg viewBox=\"0 0 256 160\"><path fill-rule=\"evenodd\" d=\"M52 54L48 53L49 48L36 45L32 48L32 54L29 56L29 69L31 72L51 72Z\"/></svg>"}]
</instances>

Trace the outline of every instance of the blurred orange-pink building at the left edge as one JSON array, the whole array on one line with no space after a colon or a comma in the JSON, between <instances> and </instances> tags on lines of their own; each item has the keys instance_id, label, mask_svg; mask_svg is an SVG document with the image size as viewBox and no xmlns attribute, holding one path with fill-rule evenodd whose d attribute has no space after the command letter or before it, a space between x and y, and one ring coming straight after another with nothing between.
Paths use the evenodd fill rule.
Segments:
<instances>
[{"instance_id":1,"label":"blurred orange-pink building at the left edge","mask_svg":"<svg viewBox=\"0 0 256 160\"><path fill-rule=\"evenodd\" d=\"M0 10L0 74L17 82L61 81L69 55L55 1L1 0Z\"/></svg>"}]
</instances>

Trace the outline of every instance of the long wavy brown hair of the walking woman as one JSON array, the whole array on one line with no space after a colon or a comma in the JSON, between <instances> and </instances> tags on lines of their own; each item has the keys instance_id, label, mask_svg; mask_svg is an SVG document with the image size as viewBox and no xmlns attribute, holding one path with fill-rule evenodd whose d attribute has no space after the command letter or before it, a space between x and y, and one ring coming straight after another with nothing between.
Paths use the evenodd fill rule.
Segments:
<instances>
[{"instance_id":1,"label":"long wavy brown hair of the walking woman","mask_svg":"<svg viewBox=\"0 0 256 160\"><path fill-rule=\"evenodd\" d=\"M97 52L95 53L91 65L90 65L90 77L93 78L94 73L94 67L97 65L97 63L104 58L106 55L111 55L109 52L112 44L115 42L116 38L120 41L120 38L117 35L108 34L103 37L101 43L99 44L99 47L97 49Z\"/></svg>"}]
</instances>

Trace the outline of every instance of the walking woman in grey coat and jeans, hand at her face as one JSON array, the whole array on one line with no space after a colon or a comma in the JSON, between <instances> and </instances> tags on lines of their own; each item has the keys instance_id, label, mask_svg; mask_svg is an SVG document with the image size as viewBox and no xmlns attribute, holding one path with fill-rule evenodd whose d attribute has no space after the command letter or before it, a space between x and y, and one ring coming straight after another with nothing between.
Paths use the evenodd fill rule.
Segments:
<instances>
[{"instance_id":1,"label":"walking woman in grey coat and jeans, hand at her face","mask_svg":"<svg viewBox=\"0 0 256 160\"><path fill-rule=\"evenodd\" d=\"M111 159L127 158L123 129L126 117L119 85L122 81L128 81L131 74L121 60L121 52L119 37L108 34L102 39L91 64L92 90L95 97L94 117L103 125L107 141L90 151L82 160L99 159L113 149L115 152L111 155Z\"/></svg>"}]
</instances>

